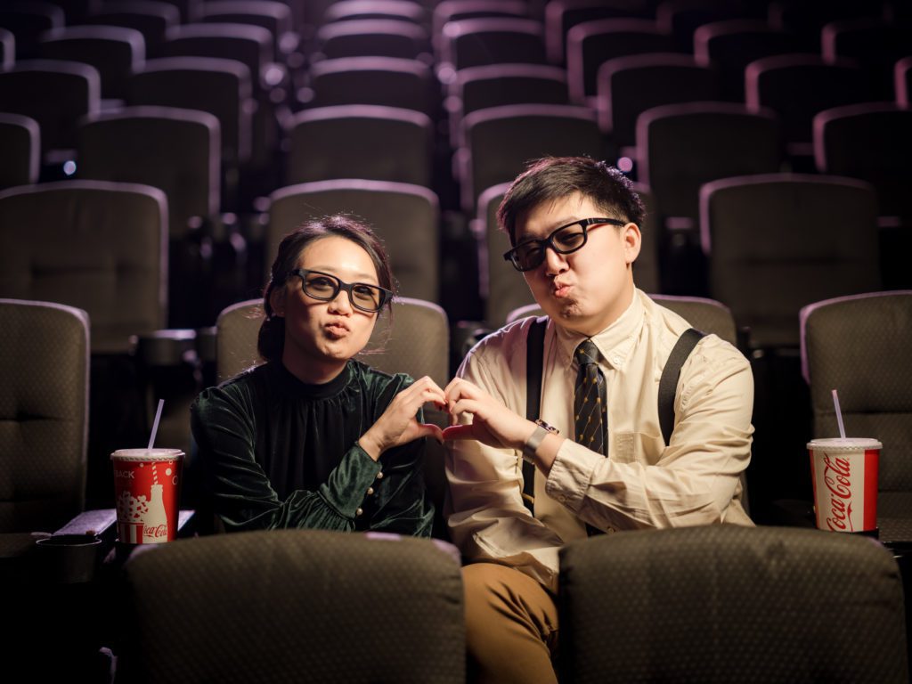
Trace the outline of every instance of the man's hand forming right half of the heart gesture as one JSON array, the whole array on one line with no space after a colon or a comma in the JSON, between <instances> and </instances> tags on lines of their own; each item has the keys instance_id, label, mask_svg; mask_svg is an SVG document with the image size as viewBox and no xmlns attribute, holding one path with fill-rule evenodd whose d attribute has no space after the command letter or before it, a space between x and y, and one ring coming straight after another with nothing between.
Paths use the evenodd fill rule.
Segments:
<instances>
[{"instance_id":1,"label":"man's hand forming right half of the heart gesture","mask_svg":"<svg viewBox=\"0 0 912 684\"><path fill-rule=\"evenodd\" d=\"M444 440L478 440L499 449L522 449L535 430L526 420L468 380L456 378L444 390L447 409L455 423L461 413L471 413L469 425L451 425L443 430Z\"/></svg>"}]
</instances>

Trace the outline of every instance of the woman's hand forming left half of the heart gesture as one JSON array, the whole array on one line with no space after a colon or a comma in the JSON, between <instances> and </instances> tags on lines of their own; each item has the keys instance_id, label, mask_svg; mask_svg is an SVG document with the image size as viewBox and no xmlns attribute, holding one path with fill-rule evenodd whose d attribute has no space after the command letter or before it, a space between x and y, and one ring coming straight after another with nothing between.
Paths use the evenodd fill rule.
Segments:
<instances>
[{"instance_id":1,"label":"woman's hand forming left half of the heart gesture","mask_svg":"<svg viewBox=\"0 0 912 684\"><path fill-rule=\"evenodd\" d=\"M433 403L440 409L445 408L447 403L443 390L428 376L415 380L389 402L383 415L358 440L361 449L377 461L384 451L419 437L442 440L443 433L438 426L420 423L415 418L418 409L426 403Z\"/></svg>"}]
</instances>

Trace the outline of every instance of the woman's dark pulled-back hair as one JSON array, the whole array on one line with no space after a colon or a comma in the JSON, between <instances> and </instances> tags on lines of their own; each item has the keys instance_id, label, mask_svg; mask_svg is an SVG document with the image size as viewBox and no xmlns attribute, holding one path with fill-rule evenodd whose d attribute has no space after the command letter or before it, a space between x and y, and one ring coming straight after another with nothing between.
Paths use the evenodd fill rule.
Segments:
<instances>
[{"instance_id":1,"label":"woman's dark pulled-back hair","mask_svg":"<svg viewBox=\"0 0 912 684\"><path fill-rule=\"evenodd\" d=\"M278 254L275 254L275 261L270 270L269 284L266 285L263 295L263 309L266 317L260 326L256 348L260 352L260 356L267 361L281 359L282 350L285 347L285 318L275 316L273 306L269 301L270 296L276 287L285 285L288 275L298 267L298 261L306 246L325 237L344 237L362 247L374 263L380 287L395 292L393 274L389 268L389 256L377 234L367 224L344 215L326 216L304 223L285 235L279 244ZM385 306L391 313L391 300L388 300Z\"/></svg>"}]
</instances>

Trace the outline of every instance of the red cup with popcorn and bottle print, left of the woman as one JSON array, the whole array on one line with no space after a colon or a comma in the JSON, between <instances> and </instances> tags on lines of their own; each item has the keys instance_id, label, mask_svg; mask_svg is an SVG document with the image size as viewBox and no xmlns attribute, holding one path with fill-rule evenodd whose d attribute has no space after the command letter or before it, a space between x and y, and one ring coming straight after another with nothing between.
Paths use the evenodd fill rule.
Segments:
<instances>
[{"instance_id":1,"label":"red cup with popcorn and bottle print, left of the woman","mask_svg":"<svg viewBox=\"0 0 912 684\"><path fill-rule=\"evenodd\" d=\"M181 501L180 449L120 449L111 454L118 538L161 544L177 537Z\"/></svg>"}]
</instances>

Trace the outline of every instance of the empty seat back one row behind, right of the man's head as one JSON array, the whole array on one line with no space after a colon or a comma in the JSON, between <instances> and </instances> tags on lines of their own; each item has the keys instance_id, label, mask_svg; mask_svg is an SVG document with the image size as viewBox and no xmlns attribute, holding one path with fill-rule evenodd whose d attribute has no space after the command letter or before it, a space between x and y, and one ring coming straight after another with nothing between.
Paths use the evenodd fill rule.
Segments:
<instances>
[{"instance_id":1,"label":"empty seat back one row behind, right of the man's head","mask_svg":"<svg viewBox=\"0 0 912 684\"><path fill-rule=\"evenodd\" d=\"M700 191L710 294L751 347L798 347L802 306L879 287L876 194L834 176L768 174Z\"/></svg>"}]
</instances>

